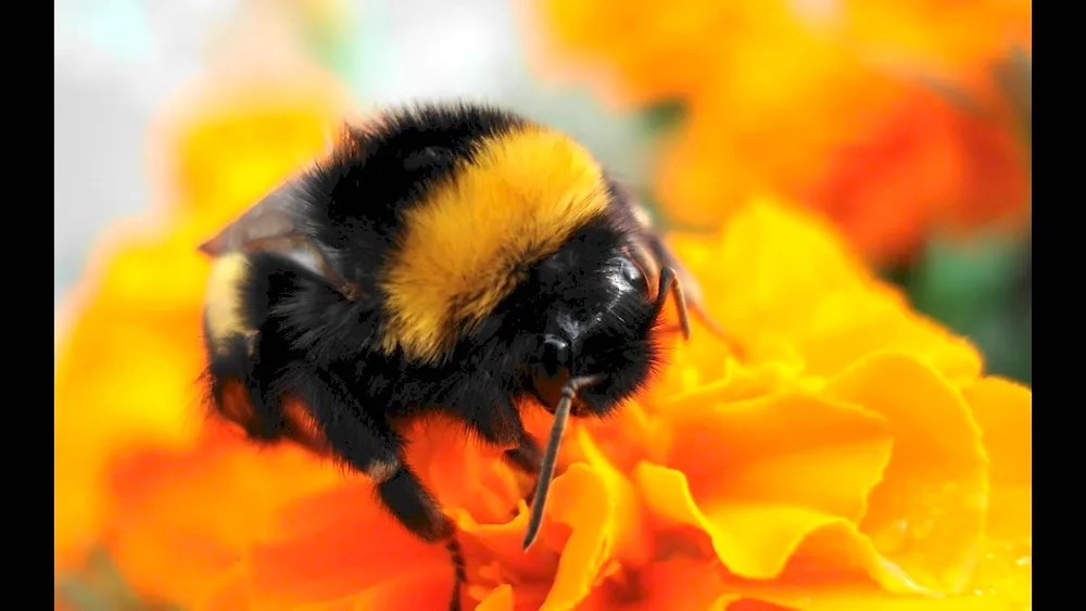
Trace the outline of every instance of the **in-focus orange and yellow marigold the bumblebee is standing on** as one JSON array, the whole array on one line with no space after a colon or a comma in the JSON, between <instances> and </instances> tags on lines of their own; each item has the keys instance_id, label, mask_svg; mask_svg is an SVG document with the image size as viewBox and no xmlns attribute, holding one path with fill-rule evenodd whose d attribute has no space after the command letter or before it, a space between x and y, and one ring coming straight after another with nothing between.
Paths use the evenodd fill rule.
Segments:
<instances>
[{"instance_id":1,"label":"in-focus orange and yellow marigold the bumblebee is standing on","mask_svg":"<svg viewBox=\"0 0 1086 611\"><path fill-rule=\"evenodd\" d=\"M750 357L697 333L641 400L576 424L530 552L525 483L496 450L451 423L408 432L408 460L459 525L468 608L1025 606L1030 391L982 377L969 344L790 206L755 201L719 237L675 245ZM538 435L547 424L528 419ZM364 476L215 427L192 447L154 445L118 457L105 529L144 594L204 609L446 604L445 552L382 512Z\"/></svg>"}]
</instances>

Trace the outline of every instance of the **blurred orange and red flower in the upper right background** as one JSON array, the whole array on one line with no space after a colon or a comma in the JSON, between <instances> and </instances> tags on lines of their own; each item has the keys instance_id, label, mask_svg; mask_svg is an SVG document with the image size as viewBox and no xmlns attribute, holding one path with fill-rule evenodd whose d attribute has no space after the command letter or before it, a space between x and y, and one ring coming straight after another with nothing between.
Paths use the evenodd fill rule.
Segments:
<instances>
[{"instance_id":1,"label":"blurred orange and red flower in the upper right background","mask_svg":"<svg viewBox=\"0 0 1086 611\"><path fill-rule=\"evenodd\" d=\"M1030 2L666 7L545 0L539 63L603 66L584 78L616 103L685 104L655 184L672 222L711 229L776 192L882 263L933 229L1027 219L1028 153L993 67L1030 49Z\"/></svg>"}]
</instances>

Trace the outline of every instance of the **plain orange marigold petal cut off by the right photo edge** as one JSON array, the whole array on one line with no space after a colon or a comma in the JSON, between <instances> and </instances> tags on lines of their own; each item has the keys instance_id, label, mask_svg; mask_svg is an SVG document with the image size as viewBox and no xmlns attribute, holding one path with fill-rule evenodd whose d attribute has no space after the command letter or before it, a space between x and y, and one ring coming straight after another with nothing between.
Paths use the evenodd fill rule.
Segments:
<instances>
[{"instance_id":1,"label":"plain orange marigold petal cut off by the right photo edge","mask_svg":"<svg viewBox=\"0 0 1086 611\"><path fill-rule=\"evenodd\" d=\"M984 378L962 389L962 395L990 460L987 532L1012 540L1032 536L1033 393L1008 380Z\"/></svg>"}]
</instances>

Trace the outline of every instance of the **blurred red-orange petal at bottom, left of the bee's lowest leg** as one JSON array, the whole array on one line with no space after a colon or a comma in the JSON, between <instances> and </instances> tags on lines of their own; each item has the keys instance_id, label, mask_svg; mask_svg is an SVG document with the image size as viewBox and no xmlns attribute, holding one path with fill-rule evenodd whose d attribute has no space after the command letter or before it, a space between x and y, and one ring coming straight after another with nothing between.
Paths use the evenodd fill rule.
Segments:
<instances>
[{"instance_id":1,"label":"blurred red-orange petal at bottom, left of the bee's lowest leg","mask_svg":"<svg viewBox=\"0 0 1086 611\"><path fill-rule=\"evenodd\" d=\"M432 567L442 568L452 591L449 553L412 536L377 504L368 481L295 501L279 518L276 535L250 551L262 609L329 602Z\"/></svg>"}]
</instances>

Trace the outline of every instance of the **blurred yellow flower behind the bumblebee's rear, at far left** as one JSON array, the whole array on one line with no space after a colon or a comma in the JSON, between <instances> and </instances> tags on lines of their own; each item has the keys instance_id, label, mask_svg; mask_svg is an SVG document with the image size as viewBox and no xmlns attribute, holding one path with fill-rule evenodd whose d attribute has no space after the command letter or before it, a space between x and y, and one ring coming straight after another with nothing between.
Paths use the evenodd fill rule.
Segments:
<instances>
[{"instance_id":1,"label":"blurred yellow flower behind the bumblebee's rear, at far left","mask_svg":"<svg viewBox=\"0 0 1086 611\"><path fill-rule=\"evenodd\" d=\"M181 99L157 131L172 155L156 167L165 178L159 214L109 236L61 324L59 565L85 552L109 519L103 487L118 453L134 444L180 451L203 443L195 383L210 266L195 246L323 151L346 109L327 77L282 61L274 74L242 75L227 64Z\"/></svg>"}]
</instances>

